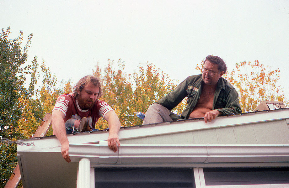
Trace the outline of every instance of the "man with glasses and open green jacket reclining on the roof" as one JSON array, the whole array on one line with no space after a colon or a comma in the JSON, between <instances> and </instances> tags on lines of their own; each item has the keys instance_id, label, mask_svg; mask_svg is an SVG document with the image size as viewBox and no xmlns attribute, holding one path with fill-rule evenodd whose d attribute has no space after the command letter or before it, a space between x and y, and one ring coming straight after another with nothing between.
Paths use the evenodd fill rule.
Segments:
<instances>
[{"instance_id":1,"label":"man with glasses and open green jacket reclining on the roof","mask_svg":"<svg viewBox=\"0 0 289 188\"><path fill-rule=\"evenodd\" d=\"M152 104L143 124L189 118L204 118L207 123L220 115L242 113L237 91L222 78L226 70L226 63L220 57L207 56L202 74L189 76L174 91ZM171 112L185 97L188 104L182 115Z\"/></svg>"}]
</instances>

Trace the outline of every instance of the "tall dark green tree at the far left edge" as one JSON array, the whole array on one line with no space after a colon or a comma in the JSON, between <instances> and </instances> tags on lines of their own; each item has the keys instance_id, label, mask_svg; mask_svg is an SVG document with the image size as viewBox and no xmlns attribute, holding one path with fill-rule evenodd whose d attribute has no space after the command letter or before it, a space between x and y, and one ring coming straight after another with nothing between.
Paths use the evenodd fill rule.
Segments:
<instances>
[{"instance_id":1,"label":"tall dark green tree at the far left edge","mask_svg":"<svg viewBox=\"0 0 289 188\"><path fill-rule=\"evenodd\" d=\"M33 72L31 66L25 66L32 34L29 34L23 48L21 47L23 32L20 31L16 39L8 39L9 34L10 28L2 29L0 34L0 137L16 140L23 138L23 134L17 131L18 121L22 114L22 103L19 99L22 96L29 96L28 91L33 88L33 81L29 89L24 87L26 74ZM36 59L33 61L35 63ZM17 164L15 154L15 144L1 143L1 187L4 187Z\"/></svg>"}]
</instances>

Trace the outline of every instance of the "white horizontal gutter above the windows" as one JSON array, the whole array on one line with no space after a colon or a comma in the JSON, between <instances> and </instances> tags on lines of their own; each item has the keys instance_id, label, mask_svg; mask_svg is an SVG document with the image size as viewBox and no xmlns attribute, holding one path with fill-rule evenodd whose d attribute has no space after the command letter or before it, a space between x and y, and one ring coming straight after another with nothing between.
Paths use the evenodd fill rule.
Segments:
<instances>
[{"instance_id":1,"label":"white horizontal gutter above the windows","mask_svg":"<svg viewBox=\"0 0 289 188\"><path fill-rule=\"evenodd\" d=\"M95 166L288 166L289 144L70 144L72 162L86 158ZM226 165L227 164L227 165Z\"/></svg>"}]
</instances>

